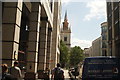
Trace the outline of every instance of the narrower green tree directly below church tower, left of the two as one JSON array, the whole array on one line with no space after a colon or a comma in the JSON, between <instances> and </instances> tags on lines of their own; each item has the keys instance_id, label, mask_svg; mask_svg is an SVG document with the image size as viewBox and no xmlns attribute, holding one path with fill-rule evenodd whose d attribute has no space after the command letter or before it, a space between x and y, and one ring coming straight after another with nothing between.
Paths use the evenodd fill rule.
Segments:
<instances>
[{"instance_id":1,"label":"narrower green tree directly below church tower, left of the two","mask_svg":"<svg viewBox=\"0 0 120 80\"><path fill-rule=\"evenodd\" d=\"M63 67L67 67L66 65L69 62L69 49L64 44L63 41L60 41L60 63L63 65Z\"/></svg>"}]
</instances>

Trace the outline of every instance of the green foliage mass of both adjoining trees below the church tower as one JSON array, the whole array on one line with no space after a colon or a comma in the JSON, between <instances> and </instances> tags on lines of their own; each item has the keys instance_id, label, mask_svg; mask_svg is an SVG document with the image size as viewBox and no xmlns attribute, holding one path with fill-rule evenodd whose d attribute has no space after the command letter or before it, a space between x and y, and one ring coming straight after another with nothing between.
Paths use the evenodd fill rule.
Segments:
<instances>
[{"instance_id":1,"label":"green foliage mass of both adjoining trees below the church tower","mask_svg":"<svg viewBox=\"0 0 120 80\"><path fill-rule=\"evenodd\" d=\"M83 61L83 58L83 50L79 46L75 46L69 50L64 42L60 42L60 63L64 67L76 67Z\"/></svg>"}]
</instances>

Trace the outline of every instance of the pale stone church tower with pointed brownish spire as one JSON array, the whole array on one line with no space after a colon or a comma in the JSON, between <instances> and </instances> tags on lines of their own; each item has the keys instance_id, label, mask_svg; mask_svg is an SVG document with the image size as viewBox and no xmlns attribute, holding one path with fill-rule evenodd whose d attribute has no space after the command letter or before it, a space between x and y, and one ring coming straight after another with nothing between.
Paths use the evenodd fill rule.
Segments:
<instances>
[{"instance_id":1,"label":"pale stone church tower with pointed brownish spire","mask_svg":"<svg viewBox=\"0 0 120 80\"><path fill-rule=\"evenodd\" d=\"M65 12L64 22L61 29L61 40L70 49L71 47L71 29L67 19L67 11Z\"/></svg>"}]
</instances>

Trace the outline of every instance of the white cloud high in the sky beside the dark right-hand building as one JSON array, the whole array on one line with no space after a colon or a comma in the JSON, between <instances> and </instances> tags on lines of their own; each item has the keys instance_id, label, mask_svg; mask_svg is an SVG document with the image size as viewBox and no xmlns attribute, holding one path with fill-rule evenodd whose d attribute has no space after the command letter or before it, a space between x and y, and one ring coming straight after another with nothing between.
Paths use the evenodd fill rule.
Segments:
<instances>
[{"instance_id":1,"label":"white cloud high in the sky beside the dark right-hand building","mask_svg":"<svg viewBox=\"0 0 120 80\"><path fill-rule=\"evenodd\" d=\"M86 7L88 7L90 11L87 15L85 15L83 19L84 21L89 21L93 18L100 19L100 18L106 17L106 2L105 1L92 0L86 3Z\"/></svg>"}]
</instances>

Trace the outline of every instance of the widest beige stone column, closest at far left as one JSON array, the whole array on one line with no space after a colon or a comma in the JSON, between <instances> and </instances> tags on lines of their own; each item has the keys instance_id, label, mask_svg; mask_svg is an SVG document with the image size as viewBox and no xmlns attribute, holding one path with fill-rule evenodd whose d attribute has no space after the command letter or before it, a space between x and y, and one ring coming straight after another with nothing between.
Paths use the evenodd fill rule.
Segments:
<instances>
[{"instance_id":1,"label":"widest beige stone column, closest at far left","mask_svg":"<svg viewBox=\"0 0 120 80\"><path fill-rule=\"evenodd\" d=\"M2 62L12 66L18 59L22 2L5 2L2 23Z\"/></svg>"}]
</instances>

